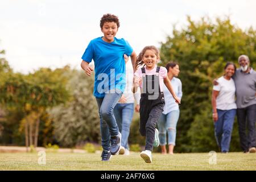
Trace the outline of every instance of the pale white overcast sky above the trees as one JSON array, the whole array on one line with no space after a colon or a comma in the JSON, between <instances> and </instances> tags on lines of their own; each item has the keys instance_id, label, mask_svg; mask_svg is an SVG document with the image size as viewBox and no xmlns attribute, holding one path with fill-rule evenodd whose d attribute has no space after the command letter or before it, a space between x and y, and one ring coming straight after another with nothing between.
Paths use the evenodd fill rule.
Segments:
<instances>
[{"instance_id":1,"label":"pale white overcast sky above the trees","mask_svg":"<svg viewBox=\"0 0 256 182\"><path fill-rule=\"evenodd\" d=\"M164 42L172 25L184 27L193 20L229 15L243 30L256 28L254 0L1 0L0 50L15 72L39 67L71 65L80 69L81 56L91 39L102 36L103 14L118 15L117 38L129 41L135 52Z\"/></svg>"}]
</instances>

